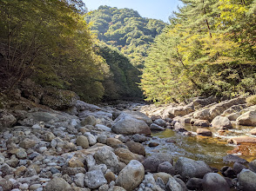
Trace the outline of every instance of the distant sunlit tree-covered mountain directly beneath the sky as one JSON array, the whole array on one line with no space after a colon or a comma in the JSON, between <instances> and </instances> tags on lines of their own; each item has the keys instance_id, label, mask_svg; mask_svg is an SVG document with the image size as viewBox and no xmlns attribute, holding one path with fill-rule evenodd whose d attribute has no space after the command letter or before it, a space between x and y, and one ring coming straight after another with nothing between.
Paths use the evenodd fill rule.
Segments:
<instances>
[{"instance_id":1,"label":"distant sunlit tree-covered mountain directly beneath the sky","mask_svg":"<svg viewBox=\"0 0 256 191\"><path fill-rule=\"evenodd\" d=\"M131 58L131 63L143 68L147 49L165 28L165 23L143 18L138 12L130 9L100 6L85 16L87 23L91 23L91 30L98 34L98 39Z\"/></svg>"}]
</instances>

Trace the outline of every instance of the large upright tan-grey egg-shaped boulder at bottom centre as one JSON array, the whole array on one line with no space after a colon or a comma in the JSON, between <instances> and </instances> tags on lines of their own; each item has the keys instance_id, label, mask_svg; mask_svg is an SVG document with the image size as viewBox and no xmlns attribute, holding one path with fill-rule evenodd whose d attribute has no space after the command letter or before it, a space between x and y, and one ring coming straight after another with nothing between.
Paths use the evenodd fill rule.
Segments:
<instances>
[{"instance_id":1,"label":"large upright tan-grey egg-shaped boulder at bottom centre","mask_svg":"<svg viewBox=\"0 0 256 191\"><path fill-rule=\"evenodd\" d=\"M131 191L138 187L144 180L145 169L143 165L136 160L132 160L121 170L116 180L117 185Z\"/></svg>"}]
</instances>

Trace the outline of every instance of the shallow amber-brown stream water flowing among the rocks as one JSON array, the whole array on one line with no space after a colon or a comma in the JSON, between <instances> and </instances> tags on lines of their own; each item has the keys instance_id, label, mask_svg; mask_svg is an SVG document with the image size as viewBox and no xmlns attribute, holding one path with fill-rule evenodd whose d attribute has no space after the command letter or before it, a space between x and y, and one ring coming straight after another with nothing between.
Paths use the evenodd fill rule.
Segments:
<instances>
[{"instance_id":1,"label":"shallow amber-brown stream water flowing among the rocks","mask_svg":"<svg viewBox=\"0 0 256 191\"><path fill-rule=\"evenodd\" d=\"M209 128L212 131L212 137L196 135L196 129L199 127L186 125L185 128L192 132L192 136L182 135L168 128L165 131L153 132L152 142L158 142L159 145L155 148L146 147L146 152L150 155L155 152L167 153L172 155L174 161L179 156L184 156L205 161L215 168L226 165L222 158L227 154L239 155L247 161L253 161L256 158L256 145L235 146L226 142L233 136L250 135L251 127L236 126L223 134L219 134L216 128ZM172 139L175 143L165 142L168 139Z\"/></svg>"}]
</instances>

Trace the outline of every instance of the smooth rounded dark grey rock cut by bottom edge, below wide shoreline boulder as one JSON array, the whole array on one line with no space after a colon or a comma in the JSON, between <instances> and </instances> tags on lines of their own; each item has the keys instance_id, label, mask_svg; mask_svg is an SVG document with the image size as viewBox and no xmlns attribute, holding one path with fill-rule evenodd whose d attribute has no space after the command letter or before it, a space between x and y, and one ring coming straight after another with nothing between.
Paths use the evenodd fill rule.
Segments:
<instances>
[{"instance_id":1,"label":"smooth rounded dark grey rock cut by bottom edge, below wide shoreline boulder","mask_svg":"<svg viewBox=\"0 0 256 191\"><path fill-rule=\"evenodd\" d=\"M217 173L208 173L203 178L203 189L207 191L229 191L226 180Z\"/></svg>"}]
</instances>

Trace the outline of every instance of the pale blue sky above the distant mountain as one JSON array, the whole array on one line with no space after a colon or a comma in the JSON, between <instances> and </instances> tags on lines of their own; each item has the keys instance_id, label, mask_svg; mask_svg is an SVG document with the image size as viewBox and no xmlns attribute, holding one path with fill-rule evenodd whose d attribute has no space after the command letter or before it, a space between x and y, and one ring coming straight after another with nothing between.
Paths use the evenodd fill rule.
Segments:
<instances>
[{"instance_id":1,"label":"pale blue sky above the distant mountain","mask_svg":"<svg viewBox=\"0 0 256 191\"><path fill-rule=\"evenodd\" d=\"M100 5L137 10L140 16L161 19L168 17L181 3L179 0L84 0L88 10L97 10Z\"/></svg>"}]
</instances>

